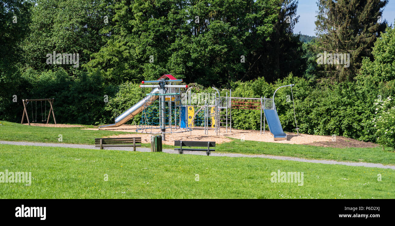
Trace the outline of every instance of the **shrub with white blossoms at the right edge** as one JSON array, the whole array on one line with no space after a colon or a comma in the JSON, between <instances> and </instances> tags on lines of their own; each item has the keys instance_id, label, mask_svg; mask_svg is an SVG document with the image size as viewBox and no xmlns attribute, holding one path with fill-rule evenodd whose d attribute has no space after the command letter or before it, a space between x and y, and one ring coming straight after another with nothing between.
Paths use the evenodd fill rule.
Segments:
<instances>
[{"instance_id":1,"label":"shrub with white blossoms at the right edge","mask_svg":"<svg viewBox=\"0 0 395 226\"><path fill-rule=\"evenodd\" d=\"M384 101L378 101L374 104L376 105L376 117L373 119L373 124L377 128L377 143L392 147L395 150L395 106L393 98L389 96Z\"/></svg>"}]
</instances>

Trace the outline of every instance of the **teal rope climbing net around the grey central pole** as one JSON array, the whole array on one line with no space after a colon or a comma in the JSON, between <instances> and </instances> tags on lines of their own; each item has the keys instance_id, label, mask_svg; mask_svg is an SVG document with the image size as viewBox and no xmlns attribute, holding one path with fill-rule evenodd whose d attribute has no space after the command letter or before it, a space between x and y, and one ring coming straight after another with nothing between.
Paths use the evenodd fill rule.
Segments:
<instances>
[{"instance_id":1,"label":"teal rope climbing net around the grey central pole","mask_svg":"<svg viewBox=\"0 0 395 226\"><path fill-rule=\"evenodd\" d=\"M147 94L152 98L143 103L143 111L136 132L148 134L171 134L188 132L192 129L185 125L181 113L179 93Z\"/></svg>"}]
</instances>

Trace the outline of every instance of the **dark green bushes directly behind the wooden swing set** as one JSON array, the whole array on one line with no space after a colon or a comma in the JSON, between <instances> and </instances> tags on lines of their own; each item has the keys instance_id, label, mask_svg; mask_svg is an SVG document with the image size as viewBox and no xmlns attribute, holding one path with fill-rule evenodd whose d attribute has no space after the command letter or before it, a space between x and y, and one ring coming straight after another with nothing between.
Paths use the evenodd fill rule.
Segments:
<instances>
[{"instance_id":1,"label":"dark green bushes directly behind the wooden swing set","mask_svg":"<svg viewBox=\"0 0 395 226\"><path fill-rule=\"evenodd\" d=\"M58 123L102 124L110 115L105 111L104 95L109 97L114 93L112 86L104 84L103 74L98 70L91 72L77 72L70 77L62 68L38 73L28 69L21 75L24 89L16 91L18 96L17 111L6 110L15 114L20 121L23 112L22 99L55 98L54 112ZM44 103L43 103L44 104ZM45 111L43 105L43 111ZM28 105L34 111L35 105ZM37 114L41 114L41 105L38 103ZM47 106L48 112L48 106ZM32 117L28 114L29 118ZM37 116L37 118L39 118ZM12 119L12 118L11 118ZM31 119L31 118L30 118Z\"/></svg>"}]
</instances>

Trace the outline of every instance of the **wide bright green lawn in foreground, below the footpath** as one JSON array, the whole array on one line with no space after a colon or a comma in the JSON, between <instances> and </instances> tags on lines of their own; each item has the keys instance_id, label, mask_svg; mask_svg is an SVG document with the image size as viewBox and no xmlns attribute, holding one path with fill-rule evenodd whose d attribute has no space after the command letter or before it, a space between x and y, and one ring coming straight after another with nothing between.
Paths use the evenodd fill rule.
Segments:
<instances>
[{"instance_id":1,"label":"wide bright green lawn in foreground, below the footpath","mask_svg":"<svg viewBox=\"0 0 395 226\"><path fill-rule=\"evenodd\" d=\"M0 183L0 198L395 198L392 169L19 145L0 150L0 171L30 171L33 178L31 186ZM272 183L278 170L303 172L303 186Z\"/></svg>"}]
</instances>

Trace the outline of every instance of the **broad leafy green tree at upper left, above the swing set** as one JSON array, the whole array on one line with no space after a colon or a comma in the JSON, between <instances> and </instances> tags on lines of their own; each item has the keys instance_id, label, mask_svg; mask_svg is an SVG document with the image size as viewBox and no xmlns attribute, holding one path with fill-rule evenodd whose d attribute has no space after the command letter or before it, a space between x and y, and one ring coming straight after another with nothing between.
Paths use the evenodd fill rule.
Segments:
<instances>
[{"instance_id":1,"label":"broad leafy green tree at upper left, above the swing set","mask_svg":"<svg viewBox=\"0 0 395 226\"><path fill-rule=\"evenodd\" d=\"M38 0L32 9L32 32L24 41L26 64L36 70L64 68L71 64L47 64L47 54L79 54L79 65L91 60L111 35L113 12L109 0ZM107 23L108 22L108 23ZM76 57L75 57L76 58Z\"/></svg>"}]
</instances>

